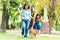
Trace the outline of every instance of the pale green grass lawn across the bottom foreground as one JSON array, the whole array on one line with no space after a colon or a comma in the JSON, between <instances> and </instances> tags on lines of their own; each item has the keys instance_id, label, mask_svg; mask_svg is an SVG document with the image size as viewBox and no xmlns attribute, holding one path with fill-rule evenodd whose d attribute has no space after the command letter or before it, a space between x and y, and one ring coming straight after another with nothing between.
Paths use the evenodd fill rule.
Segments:
<instances>
[{"instance_id":1,"label":"pale green grass lawn across the bottom foreground","mask_svg":"<svg viewBox=\"0 0 60 40\"><path fill-rule=\"evenodd\" d=\"M6 33L0 33L0 40L60 40L60 37L43 37L40 36L38 38L23 38L20 35L11 35Z\"/></svg>"}]
</instances>

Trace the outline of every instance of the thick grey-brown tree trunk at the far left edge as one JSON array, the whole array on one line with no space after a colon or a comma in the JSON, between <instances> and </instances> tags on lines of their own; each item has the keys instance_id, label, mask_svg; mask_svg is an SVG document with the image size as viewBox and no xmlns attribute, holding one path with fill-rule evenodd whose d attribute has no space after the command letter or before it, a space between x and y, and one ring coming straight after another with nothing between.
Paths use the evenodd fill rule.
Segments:
<instances>
[{"instance_id":1,"label":"thick grey-brown tree trunk at the far left edge","mask_svg":"<svg viewBox=\"0 0 60 40\"><path fill-rule=\"evenodd\" d=\"M3 2L2 24L0 32L6 32L6 2Z\"/></svg>"}]
</instances>

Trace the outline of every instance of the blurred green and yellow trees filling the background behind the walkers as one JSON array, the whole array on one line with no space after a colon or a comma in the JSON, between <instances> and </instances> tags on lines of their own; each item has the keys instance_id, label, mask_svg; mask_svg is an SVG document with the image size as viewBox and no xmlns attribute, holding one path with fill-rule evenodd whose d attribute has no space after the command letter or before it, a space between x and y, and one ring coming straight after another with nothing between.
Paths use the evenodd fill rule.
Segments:
<instances>
[{"instance_id":1,"label":"blurred green and yellow trees filling the background behind the walkers","mask_svg":"<svg viewBox=\"0 0 60 40\"><path fill-rule=\"evenodd\" d=\"M41 15L41 24L44 20L44 0L0 0L0 29L5 32L7 29L21 28L20 14L17 8L22 10L25 2L30 4L34 17L37 13ZM60 1L47 1L47 16L51 29L59 30L60 26ZM52 29L52 30L53 30Z\"/></svg>"}]
</instances>

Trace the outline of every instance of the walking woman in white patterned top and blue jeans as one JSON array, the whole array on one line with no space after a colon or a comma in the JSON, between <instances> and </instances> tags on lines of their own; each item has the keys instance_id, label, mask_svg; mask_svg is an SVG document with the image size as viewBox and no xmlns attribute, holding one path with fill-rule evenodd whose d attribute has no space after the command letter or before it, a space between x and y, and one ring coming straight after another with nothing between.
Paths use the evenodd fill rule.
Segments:
<instances>
[{"instance_id":1,"label":"walking woman in white patterned top and blue jeans","mask_svg":"<svg viewBox=\"0 0 60 40\"><path fill-rule=\"evenodd\" d=\"M28 3L24 4L23 10L20 12L20 15L22 19L22 35L24 37L27 37L28 27L29 27L30 18L31 18L31 10L30 10L30 5Z\"/></svg>"}]
</instances>

